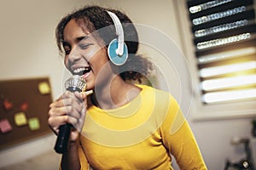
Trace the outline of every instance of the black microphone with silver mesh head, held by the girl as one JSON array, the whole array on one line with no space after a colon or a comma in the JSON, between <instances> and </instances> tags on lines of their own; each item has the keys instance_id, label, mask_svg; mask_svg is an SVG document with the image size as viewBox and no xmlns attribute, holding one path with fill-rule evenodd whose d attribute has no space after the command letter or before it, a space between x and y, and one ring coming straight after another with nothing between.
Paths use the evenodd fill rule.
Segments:
<instances>
[{"instance_id":1,"label":"black microphone with silver mesh head, held by the girl","mask_svg":"<svg viewBox=\"0 0 256 170\"><path fill-rule=\"evenodd\" d=\"M86 82L79 75L74 75L67 79L65 88L70 92L84 92L86 89ZM55 143L55 151L57 153L63 154L67 151L67 144L72 126L72 124L67 123L59 127L59 134Z\"/></svg>"}]
</instances>

